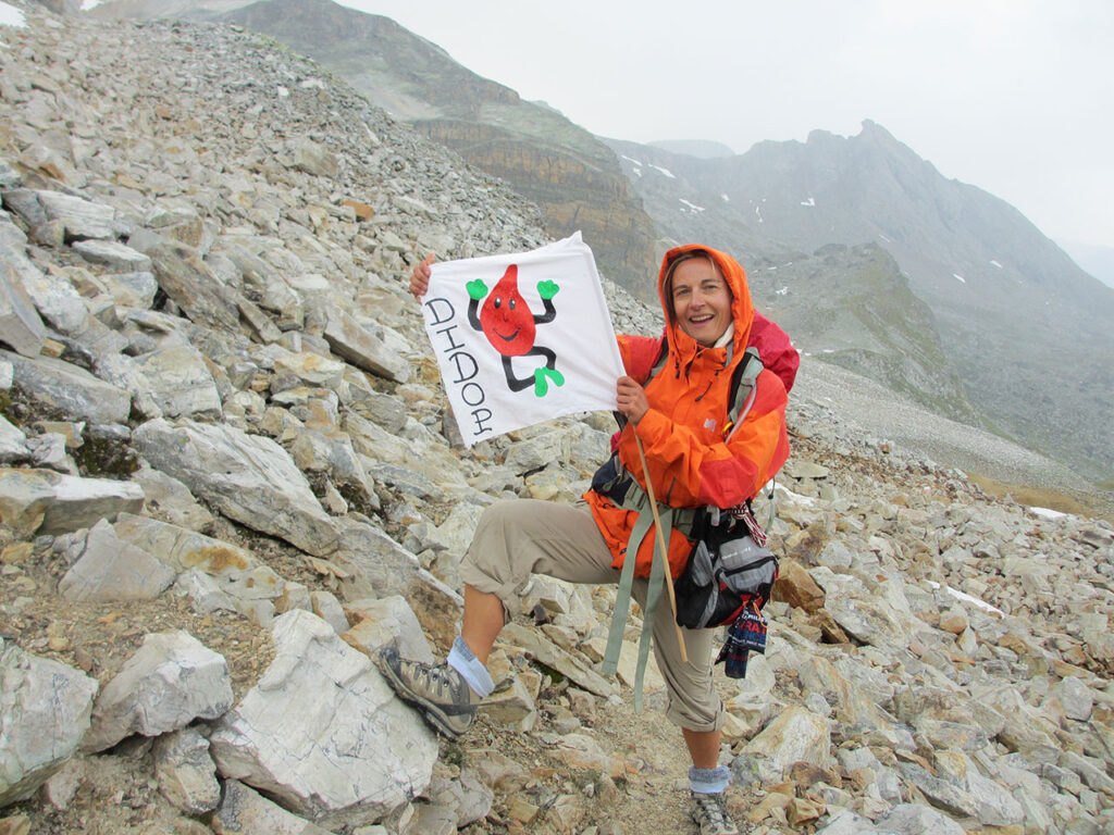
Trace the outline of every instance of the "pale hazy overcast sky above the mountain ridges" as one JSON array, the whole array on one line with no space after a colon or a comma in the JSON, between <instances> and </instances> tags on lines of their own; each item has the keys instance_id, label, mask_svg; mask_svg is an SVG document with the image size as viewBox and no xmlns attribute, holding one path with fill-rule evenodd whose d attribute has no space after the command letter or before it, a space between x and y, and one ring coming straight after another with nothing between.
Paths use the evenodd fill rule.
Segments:
<instances>
[{"instance_id":1,"label":"pale hazy overcast sky above the mountain ridges","mask_svg":"<svg viewBox=\"0 0 1114 835\"><path fill-rule=\"evenodd\" d=\"M1110 0L339 0L594 134L841 136L872 119L1048 236L1114 246Z\"/></svg>"}]
</instances>

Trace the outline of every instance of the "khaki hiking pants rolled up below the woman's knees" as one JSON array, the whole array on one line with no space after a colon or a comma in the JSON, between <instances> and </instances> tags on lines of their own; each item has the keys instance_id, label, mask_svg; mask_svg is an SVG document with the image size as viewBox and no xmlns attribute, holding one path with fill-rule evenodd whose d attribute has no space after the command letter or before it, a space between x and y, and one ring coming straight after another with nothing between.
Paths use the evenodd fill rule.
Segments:
<instances>
[{"instance_id":1,"label":"khaki hiking pants rolled up below the woman's knees","mask_svg":"<svg viewBox=\"0 0 1114 835\"><path fill-rule=\"evenodd\" d=\"M612 553L586 502L568 505L512 499L483 511L461 560L460 579L497 596L509 619L510 612L518 611L531 573L568 582L618 583L619 572L612 568ZM647 586L645 578L635 578L632 588L643 607ZM668 595L663 592L654 617L654 655L668 689L665 715L687 730L716 730L724 713L712 684L713 630L682 628L681 632L687 664L681 660Z\"/></svg>"}]
</instances>

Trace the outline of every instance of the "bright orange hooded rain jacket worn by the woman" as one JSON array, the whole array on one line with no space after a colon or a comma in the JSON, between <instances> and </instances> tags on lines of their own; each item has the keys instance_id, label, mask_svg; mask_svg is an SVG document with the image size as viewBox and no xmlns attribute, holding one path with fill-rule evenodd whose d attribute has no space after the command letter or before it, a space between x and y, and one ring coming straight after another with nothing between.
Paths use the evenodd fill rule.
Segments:
<instances>
[{"instance_id":1,"label":"bright orange hooded rain jacket worn by the woman","mask_svg":"<svg viewBox=\"0 0 1114 835\"><path fill-rule=\"evenodd\" d=\"M705 347L668 321L663 286L666 271L674 258L693 249L706 252L715 261L734 296L732 314L735 332L730 355L726 346ZM665 254L657 291L666 313L664 338L668 356L665 366L648 384L646 380L659 354L661 340L618 337L627 374L646 386L646 399L649 401L649 411L638 425L628 423L623 429L618 440L619 461L645 489L646 481L635 442L637 432L653 480L654 497L659 503L673 508L705 504L732 508L754 497L789 458L785 384L769 369L762 371L755 385L754 403L743 425L727 443L731 375L743 361L755 315L746 274L725 253L705 246L682 246ZM794 354L794 372L795 360ZM594 490L585 493L584 498L592 507L596 524L614 554L612 564L620 568L637 512L616 507L610 499ZM655 538L656 532L652 528L638 549L635 564L638 577L649 576ZM674 528L668 548L670 569L674 578L684 570L691 550L692 543Z\"/></svg>"}]
</instances>

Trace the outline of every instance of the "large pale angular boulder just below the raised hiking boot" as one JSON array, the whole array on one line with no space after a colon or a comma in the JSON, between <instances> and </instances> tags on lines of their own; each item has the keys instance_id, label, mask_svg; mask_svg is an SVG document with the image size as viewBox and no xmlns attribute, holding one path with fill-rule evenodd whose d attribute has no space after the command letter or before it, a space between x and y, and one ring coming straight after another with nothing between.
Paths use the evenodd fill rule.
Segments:
<instances>
[{"instance_id":1,"label":"large pale angular boulder just below the raised hiking boot","mask_svg":"<svg viewBox=\"0 0 1114 835\"><path fill-rule=\"evenodd\" d=\"M302 610L276 618L272 635L271 666L209 737L219 774L330 829L424 792L437 740L367 656Z\"/></svg>"}]
</instances>

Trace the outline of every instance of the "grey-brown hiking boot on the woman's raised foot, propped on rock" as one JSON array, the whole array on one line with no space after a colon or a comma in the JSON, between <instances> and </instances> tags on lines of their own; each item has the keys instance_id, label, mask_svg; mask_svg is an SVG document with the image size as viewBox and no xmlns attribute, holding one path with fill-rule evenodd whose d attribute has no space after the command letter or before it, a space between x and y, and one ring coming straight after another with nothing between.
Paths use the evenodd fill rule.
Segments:
<instances>
[{"instance_id":1,"label":"grey-brown hiking boot on the woman's raised foot, propped on rock","mask_svg":"<svg viewBox=\"0 0 1114 835\"><path fill-rule=\"evenodd\" d=\"M401 658L394 647L383 649L379 661L399 698L422 708L426 720L437 730L450 739L468 730L480 697L452 667Z\"/></svg>"}]
</instances>

